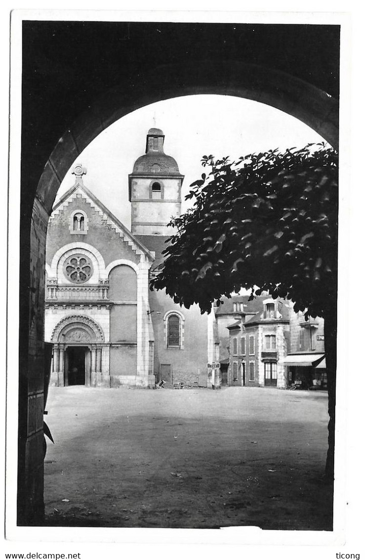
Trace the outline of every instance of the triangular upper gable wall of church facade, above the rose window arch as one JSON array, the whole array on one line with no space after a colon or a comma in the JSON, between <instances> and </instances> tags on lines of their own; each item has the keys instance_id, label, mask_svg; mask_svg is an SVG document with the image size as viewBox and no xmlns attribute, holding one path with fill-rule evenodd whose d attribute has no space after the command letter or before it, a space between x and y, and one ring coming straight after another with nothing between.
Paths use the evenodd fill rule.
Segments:
<instances>
[{"instance_id":1,"label":"triangular upper gable wall of church facade, above the rose window arch","mask_svg":"<svg viewBox=\"0 0 365 560\"><path fill-rule=\"evenodd\" d=\"M86 234L74 234L70 231L75 211L80 211L87 217ZM102 254L106 266L117 259L131 260L138 264L140 254L132 248L132 242L128 242L127 237L122 235L126 240L116 231L116 226L111 219L95 208L93 201L88 202L86 195L79 193L67 204L56 209L49 220L47 263L51 264L54 254L60 247L80 241L95 247Z\"/></svg>"}]
</instances>

